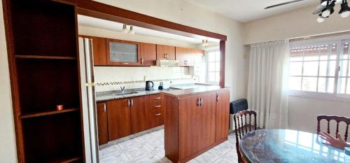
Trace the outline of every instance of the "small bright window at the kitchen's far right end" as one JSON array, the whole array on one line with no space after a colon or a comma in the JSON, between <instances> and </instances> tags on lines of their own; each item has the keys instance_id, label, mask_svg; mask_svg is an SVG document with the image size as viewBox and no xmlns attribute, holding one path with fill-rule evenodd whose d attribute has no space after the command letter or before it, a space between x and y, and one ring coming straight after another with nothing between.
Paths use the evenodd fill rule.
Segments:
<instances>
[{"instance_id":1,"label":"small bright window at the kitchen's far right end","mask_svg":"<svg viewBox=\"0 0 350 163\"><path fill-rule=\"evenodd\" d=\"M220 81L220 50L207 52L207 83L218 84Z\"/></svg>"}]
</instances>

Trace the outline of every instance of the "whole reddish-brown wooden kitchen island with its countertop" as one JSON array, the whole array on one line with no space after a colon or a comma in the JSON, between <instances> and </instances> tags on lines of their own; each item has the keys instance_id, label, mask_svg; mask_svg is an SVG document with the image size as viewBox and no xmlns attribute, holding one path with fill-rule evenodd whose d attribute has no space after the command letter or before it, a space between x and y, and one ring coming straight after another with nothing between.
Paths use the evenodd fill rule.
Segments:
<instances>
[{"instance_id":1,"label":"whole reddish-brown wooden kitchen island with its countertop","mask_svg":"<svg viewBox=\"0 0 350 163\"><path fill-rule=\"evenodd\" d=\"M228 88L173 90L163 97L165 156L172 162L187 162L228 139Z\"/></svg>"}]
</instances>

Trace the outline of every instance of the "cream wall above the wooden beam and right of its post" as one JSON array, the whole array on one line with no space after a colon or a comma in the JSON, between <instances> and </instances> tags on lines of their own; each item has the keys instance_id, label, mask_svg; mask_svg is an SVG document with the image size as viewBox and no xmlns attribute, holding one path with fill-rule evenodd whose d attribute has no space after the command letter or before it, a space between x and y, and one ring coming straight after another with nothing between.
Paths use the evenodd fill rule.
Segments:
<instances>
[{"instance_id":1,"label":"cream wall above the wooden beam and right of its post","mask_svg":"<svg viewBox=\"0 0 350 163\"><path fill-rule=\"evenodd\" d=\"M163 20L228 36L225 58L225 86L231 87L231 100L246 97L246 59L243 25L186 1L178 0L96 0Z\"/></svg>"}]
</instances>

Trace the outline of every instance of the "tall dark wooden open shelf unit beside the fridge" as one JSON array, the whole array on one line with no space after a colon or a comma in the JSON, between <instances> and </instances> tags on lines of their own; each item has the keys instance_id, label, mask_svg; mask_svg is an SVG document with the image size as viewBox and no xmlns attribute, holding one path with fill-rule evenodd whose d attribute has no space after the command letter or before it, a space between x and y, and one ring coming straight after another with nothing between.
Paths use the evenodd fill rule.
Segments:
<instances>
[{"instance_id":1,"label":"tall dark wooden open shelf unit beside the fridge","mask_svg":"<svg viewBox=\"0 0 350 163\"><path fill-rule=\"evenodd\" d=\"M84 162L76 6L3 0L3 13L18 162Z\"/></svg>"}]
</instances>

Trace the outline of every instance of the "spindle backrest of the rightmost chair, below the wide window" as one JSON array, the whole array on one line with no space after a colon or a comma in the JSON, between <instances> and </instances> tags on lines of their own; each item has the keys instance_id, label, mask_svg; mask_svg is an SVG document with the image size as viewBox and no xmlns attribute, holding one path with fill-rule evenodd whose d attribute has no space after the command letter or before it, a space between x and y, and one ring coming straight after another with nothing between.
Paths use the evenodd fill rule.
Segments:
<instances>
[{"instance_id":1,"label":"spindle backrest of the rightmost chair, below the wide window","mask_svg":"<svg viewBox=\"0 0 350 163\"><path fill-rule=\"evenodd\" d=\"M330 134L330 121L335 120L337 122L337 128L335 129L335 136L338 138L339 133L339 122L345 122L346 123L346 130L344 135L344 140L347 141L348 134L349 134L349 125L350 125L350 118L346 117L339 117L335 115L318 115L317 116L317 134L321 132L321 120L327 120L327 133Z\"/></svg>"}]
</instances>

